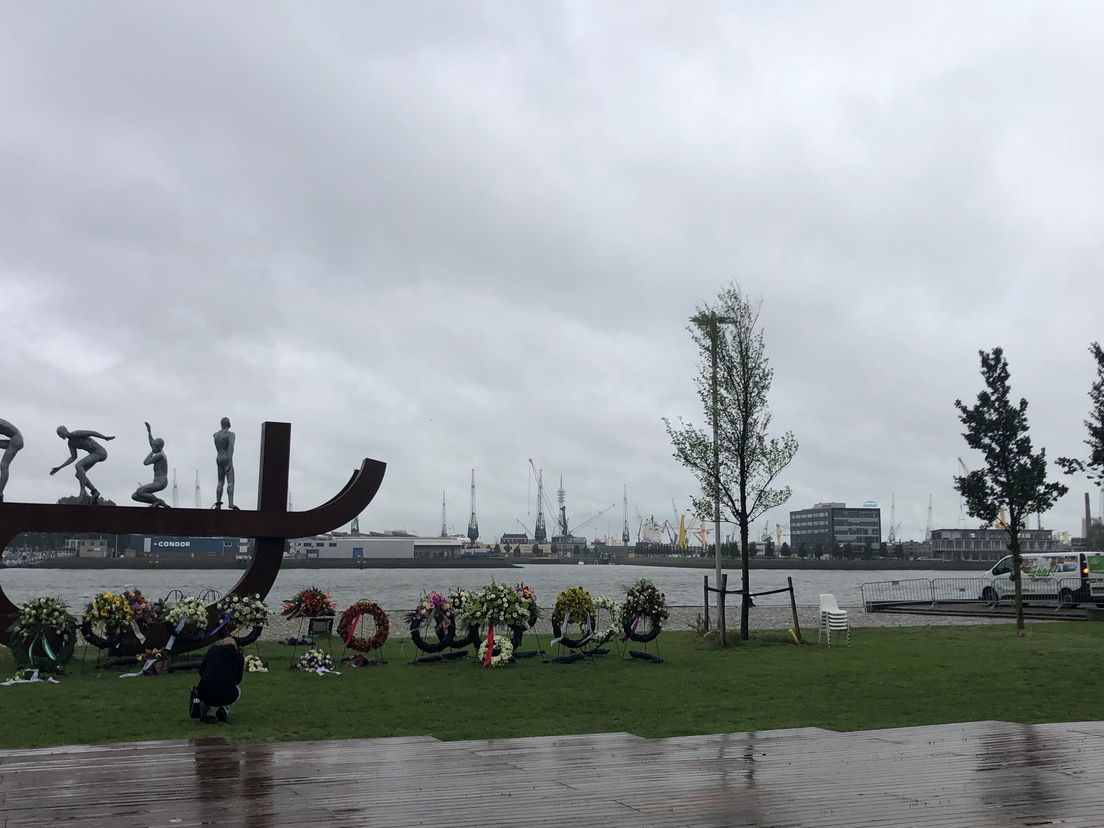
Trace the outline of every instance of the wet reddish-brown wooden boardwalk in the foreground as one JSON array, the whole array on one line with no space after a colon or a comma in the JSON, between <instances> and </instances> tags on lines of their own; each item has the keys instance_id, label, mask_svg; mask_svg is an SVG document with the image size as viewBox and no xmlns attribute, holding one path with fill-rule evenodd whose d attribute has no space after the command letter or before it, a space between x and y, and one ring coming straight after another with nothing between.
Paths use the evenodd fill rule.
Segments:
<instances>
[{"instance_id":1,"label":"wet reddish-brown wooden boardwalk in the foreground","mask_svg":"<svg viewBox=\"0 0 1104 828\"><path fill-rule=\"evenodd\" d=\"M1102 826L1104 723L0 752L0 826L82 820L181 828Z\"/></svg>"}]
</instances>

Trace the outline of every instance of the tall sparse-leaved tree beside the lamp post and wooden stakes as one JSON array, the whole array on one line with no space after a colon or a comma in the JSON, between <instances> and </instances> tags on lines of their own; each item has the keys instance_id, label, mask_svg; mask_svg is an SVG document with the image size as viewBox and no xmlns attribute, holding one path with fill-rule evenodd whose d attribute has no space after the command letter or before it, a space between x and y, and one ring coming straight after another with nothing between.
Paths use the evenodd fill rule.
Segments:
<instances>
[{"instance_id":1,"label":"tall sparse-leaved tree beside the lamp post and wooden stakes","mask_svg":"<svg viewBox=\"0 0 1104 828\"><path fill-rule=\"evenodd\" d=\"M740 528L740 637L745 640L751 605L747 539L757 518L789 500L789 487L774 488L774 482L797 454L792 432L767 436L767 394L774 371L760 327L761 306L753 305L732 285L720 293L715 305L698 309L688 330L701 354L694 382L709 428L681 418L676 426L664 418L675 458L698 479L701 493L692 498L694 512L702 519L714 517L719 496L721 519Z\"/></svg>"}]
</instances>

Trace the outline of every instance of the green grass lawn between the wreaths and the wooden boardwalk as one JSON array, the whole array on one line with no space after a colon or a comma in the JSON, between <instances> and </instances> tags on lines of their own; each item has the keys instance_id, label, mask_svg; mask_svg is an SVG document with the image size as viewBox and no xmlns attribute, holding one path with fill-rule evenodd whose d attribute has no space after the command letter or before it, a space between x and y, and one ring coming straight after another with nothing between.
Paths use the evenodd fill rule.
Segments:
<instances>
[{"instance_id":1,"label":"green grass lawn between the wreaths and the wooden boardwalk","mask_svg":"<svg viewBox=\"0 0 1104 828\"><path fill-rule=\"evenodd\" d=\"M1011 625L863 629L852 633L850 648L830 650L787 645L781 634L720 650L692 633L665 633L662 665L611 655L571 665L532 658L496 670L466 660L412 667L411 645L401 650L393 640L388 664L346 667L340 677L289 670L290 648L265 644L270 671L246 675L229 725L188 718L194 672L120 679L82 675L75 661L61 684L0 688L0 746L195 736L669 736L1101 718L1104 625L1037 624L1028 631L1017 638Z\"/></svg>"}]
</instances>

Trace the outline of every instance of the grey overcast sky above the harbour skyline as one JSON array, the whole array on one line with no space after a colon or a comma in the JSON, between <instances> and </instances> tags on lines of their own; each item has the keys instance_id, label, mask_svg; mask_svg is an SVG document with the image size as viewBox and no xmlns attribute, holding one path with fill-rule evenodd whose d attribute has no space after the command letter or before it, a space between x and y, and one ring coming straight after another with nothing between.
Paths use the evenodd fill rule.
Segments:
<instances>
[{"instance_id":1,"label":"grey overcast sky above the harbour skyline","mask_svg":"<svg viewBox=\"0 0 1104 828\"><path fill-rule=\"evenodd\" d=\"M293 423L296 509L388 463L362 529L532 529L528 459L619 534L692 480L686 332L762 298L785 510L957 527L954 400L1002 346L1036 446L1083 455L1104 339L1097 3L3 3L8 500L76 493L60 424L142 421L193 501ZM1052 466L1053 474L1059 474ZM1044 526L1080 532L1084 478ZM1098 496L1093 493L1096 513ZM166 497L170 497L166 493ZM762 523L763 521L761 521ZM976 521L970 521L976 523Z\"/></svg>"}]
</instances>

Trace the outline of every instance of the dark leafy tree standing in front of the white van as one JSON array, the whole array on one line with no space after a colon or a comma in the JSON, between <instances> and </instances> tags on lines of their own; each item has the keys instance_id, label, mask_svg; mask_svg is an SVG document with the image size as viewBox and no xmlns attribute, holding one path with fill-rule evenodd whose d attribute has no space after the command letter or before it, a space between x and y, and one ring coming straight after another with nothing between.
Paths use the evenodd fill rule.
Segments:
<instances>
[{"instance_id":1,"label":"dark leafy tree standing in front of the white van","mask_svg":"<svg viewBox=\"0 0 1104 828\"><path fill-rule=\"evenodd\" d=\"M1047 481L1047 449L1031 449L1028 436L1028 401L1011 401L1008 361L1000 348L978 351L985 389L977 404L955 400L958 418L966 431L966 445L980 452L985 467L955 478L955 488L966 501L970 516L987 524L997 520L1001 507L1008 510L1008 549L1012 553L1012 583L1016 590L1016 633L1023 635L1023 591L1020 578L1020 530L1033 512L1048 511L1068 489Z\"/></svg>"}]
</instances>

